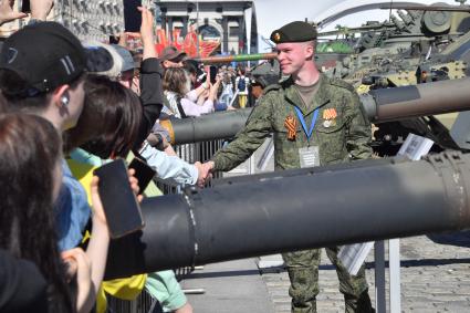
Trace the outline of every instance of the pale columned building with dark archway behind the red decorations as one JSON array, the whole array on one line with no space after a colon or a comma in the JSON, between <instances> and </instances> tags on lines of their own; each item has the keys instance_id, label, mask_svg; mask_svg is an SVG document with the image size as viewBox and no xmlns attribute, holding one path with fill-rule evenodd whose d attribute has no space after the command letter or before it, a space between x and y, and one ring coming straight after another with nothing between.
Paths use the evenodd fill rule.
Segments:
<instances>
[{"instance_id":1,"label":"pale columned building with dark archway behind the red decorations","mask_svg":"<svg viewBox=\"0 0 470 313\"><path fill-rule=\"evenodd\" d=\"M160 0L157 7L157 27L168 42L182 44L188 33L199 33L198 44L218 42L212 53L258 52L258 27L253 1L233 0ZM161 40L160 40L161 41ZM206 51L208 52L208 51ZM206 54L206 53L203 53Z\"/></svg>"}]
</instances>

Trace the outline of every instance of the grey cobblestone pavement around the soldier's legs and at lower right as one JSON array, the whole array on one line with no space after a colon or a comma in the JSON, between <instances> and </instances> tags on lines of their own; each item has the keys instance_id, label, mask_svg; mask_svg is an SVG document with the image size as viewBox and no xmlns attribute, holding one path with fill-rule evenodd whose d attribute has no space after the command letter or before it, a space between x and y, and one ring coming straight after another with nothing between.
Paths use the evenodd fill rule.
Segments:
<instances>
[{"instance_id":1,"label":"grey cobblestone pavement around the soldier's legs and at lower right","mask_svg":"<svg viewBox=\"0 0 470 313\"><path fill-rule=\"evenodd\" d=\"M436 241L469 247L469 234L436 236ZM374 294L374 253L366 260L369 294ZM428 237L400 240L401 311L470 312L470 250L435 243ZM290 312L289 277L283 270L263 273L275 312ZM388 284L388 274L387 274ZM318 312L344 312L343 295L324 250L320 268ZM388 290L387 290L388 294Z\"/></svg>"}]
</instances>

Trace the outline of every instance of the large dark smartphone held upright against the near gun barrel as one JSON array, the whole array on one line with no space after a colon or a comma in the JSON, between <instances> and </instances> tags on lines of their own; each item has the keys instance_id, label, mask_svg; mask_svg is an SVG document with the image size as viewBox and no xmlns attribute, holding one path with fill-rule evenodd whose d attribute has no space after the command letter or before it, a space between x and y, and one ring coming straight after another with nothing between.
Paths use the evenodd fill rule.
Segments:
<instances>
[{"instance_id":1,"label":"large dark smartphone held upright against the near gun barrel","mask_svg":"<svg viewBox=\"0 0 470 313\"><path fill-rule=\"evenodd\" d=\"M94 170L100 177L98 194L103 202L111 238L121 238L144 228L137 198L130 188L127 167L116 159Z\"/></svg>"}]
</instances>

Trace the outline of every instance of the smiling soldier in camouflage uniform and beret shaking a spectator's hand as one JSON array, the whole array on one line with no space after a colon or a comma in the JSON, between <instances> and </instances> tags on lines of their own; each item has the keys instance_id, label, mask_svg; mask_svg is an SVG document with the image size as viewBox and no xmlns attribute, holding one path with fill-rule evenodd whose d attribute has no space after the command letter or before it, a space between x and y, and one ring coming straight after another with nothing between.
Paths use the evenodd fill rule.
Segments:
<instances>
[{"instance_id":1,"label":"smiling soldier in camouflage uniform and beret shaking a spectator's hand","mask_svg":"<svg viewBox=\"0 0 470 313\"><path fill-rule=\"evenodd\" d=\"M370 124L358 96L348 84L316 70L315 39L316 29L305 22L289 23L272 33L281 70L290 77L264 90L246 127L216 153L206 169L226 171L237 167L270 133L274 134L276 170L370 157ZM349 275L337 252L337 247L326 249L336 268L346 312L373 312L364 267L356 277ZM291 280L292 312L316 312L320 255L320 249L283 254Z\"/></svg>"}]
</instances>

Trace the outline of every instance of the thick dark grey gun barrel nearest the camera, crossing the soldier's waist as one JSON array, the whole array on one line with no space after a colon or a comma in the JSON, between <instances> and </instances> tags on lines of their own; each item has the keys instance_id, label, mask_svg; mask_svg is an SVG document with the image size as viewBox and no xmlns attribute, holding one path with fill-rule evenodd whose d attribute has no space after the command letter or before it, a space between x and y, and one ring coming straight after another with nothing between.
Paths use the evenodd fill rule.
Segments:
<instances>
[{"instance_id":1,"label":"thick dark grey gun barrel nearest the camera, crossing the soldier's waist","mask_svg":"<svg viewBox=\"0 0 470 313\"><path fill-rule=\"evenodd\" d=\"M144 200L106 278L470 227L470 155L318 169Z\"/></svg>"}]
</instances>

